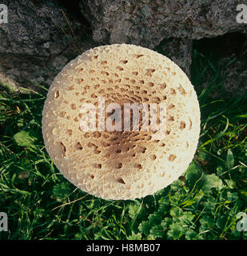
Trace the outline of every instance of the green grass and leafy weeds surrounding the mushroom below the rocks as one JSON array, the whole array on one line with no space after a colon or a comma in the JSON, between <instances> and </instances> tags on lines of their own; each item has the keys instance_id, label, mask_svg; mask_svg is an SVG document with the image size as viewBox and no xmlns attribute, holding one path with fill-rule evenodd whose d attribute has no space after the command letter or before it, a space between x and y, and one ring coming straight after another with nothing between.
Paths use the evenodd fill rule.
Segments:
<instances>
[{"instance_id":1,"label":"green grass and leafy weeds surrounding the mushroom below the rocks","mask_svg":"<svg viewBox=\"0 0 247 256\"><path fill-rule=\"evenodd\" d=\"M230 64L230 63L229 63ZM209 81L205 90L200 85ZM0 93L0 239L246 239L236 230L247 202L247 101L210 98L224 66L193 52L192 82L201 106L201 137L185 174L134 201L78 190L58 171L42 141L46 95Z\"/></svg>"}]
</instances>

